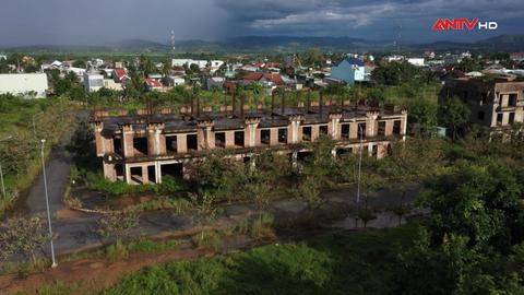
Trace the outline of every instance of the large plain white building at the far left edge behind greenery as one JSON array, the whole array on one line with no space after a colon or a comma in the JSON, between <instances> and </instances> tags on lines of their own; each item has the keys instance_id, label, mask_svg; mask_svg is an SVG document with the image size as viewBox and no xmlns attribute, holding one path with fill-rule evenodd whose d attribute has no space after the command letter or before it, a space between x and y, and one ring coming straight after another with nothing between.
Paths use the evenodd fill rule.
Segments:
<instances>
[{"instance_id":1,"label":"large plain white building at the far left edge behind greenery","mask_svg":"<svg viewBox=\"0 0 524 295\"><path fill-rule=\"evenodd\" d=\"M48 88L45 73L0 74L0 94L11 93L26 97L46 97Z\"/></svg>"}]
</instances>

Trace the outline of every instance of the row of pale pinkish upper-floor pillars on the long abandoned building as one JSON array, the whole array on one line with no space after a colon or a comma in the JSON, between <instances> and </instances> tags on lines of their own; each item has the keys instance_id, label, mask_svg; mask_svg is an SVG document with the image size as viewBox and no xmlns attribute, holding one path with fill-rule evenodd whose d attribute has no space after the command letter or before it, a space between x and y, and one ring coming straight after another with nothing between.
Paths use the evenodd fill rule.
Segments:
<instances>
[{"instance_id":1,"label":"row of pale pinkish upper-floor pillars on the long abandoned building","mask_svg":"<svg viewBox=\"0 0 524 295\"><path fill-rule=\"evenodd\" d=\"M326 125L327 135L334 140L342 139L342 126L349 125L349 139L358 140L358 125L366 123L365 137L372 138L378 135L379 130L379 113L378 111L368 111L366 117L358 118L352 122L341 122L342 121L341 113L330 114L330 120ZM265 130L270 130L270 145L278 145L278 130L286 130L286 143L296 144L302 142L303 138L303 128L311 128L311 141L315 141L320 135L320 125L303 125L303 115L290 115L288 117L289 123L287 127L273 127ZM401 121L401 135L406 134L406 122L407 114L403 111L400 119ZM261 132L262 129L259 128L261 119L258 117L247 118L245 121L245 128L241 130L226 130L219 131L224 132L225 137L225 148L235 146L235 132L243 131L243 148L255 148L261 146ZM393 134L393 119L386 119L384 135ZM196 150L213 150L216 148L215 144L215 132L213 131L214 121L213 120L199 120L196 122L195 133L179 133L172 137L177 137L177 153L187 153L188 152L188 135L196 135ZM163 133L165 125L163 122L158 123L148 123L146 127L146 138L147 138L147 153L148 155L164 155L167 154L166 146L166 134ZM104 156L105 154L114 153L114 138L106 138L103 132L103 122L95 122L95 141L96 150L98 156ZM132 125L123 125L121 127L122 133L122 152L124 157L135 156L135 150L133 144L133 139L135 137L135 131L133 130Z\"/></svg>"}]
</instances>

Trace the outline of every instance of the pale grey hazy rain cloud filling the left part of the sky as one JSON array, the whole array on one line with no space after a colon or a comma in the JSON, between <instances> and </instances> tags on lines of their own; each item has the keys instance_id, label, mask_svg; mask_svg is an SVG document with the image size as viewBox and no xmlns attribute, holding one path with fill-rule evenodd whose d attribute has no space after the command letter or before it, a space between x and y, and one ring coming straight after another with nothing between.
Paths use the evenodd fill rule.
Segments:
<instances>
[{"instance_id":1,"label":"pale grey hazy rain cloud filling the left part of the sky","mask_svg":"<svg viewBox=\"0 0 524 295\"><path fill-rule=\"evenodd\" d=\"M214 39L228 17L213 0L4 0L0 45Z\"/></svg>"}]
</instances>

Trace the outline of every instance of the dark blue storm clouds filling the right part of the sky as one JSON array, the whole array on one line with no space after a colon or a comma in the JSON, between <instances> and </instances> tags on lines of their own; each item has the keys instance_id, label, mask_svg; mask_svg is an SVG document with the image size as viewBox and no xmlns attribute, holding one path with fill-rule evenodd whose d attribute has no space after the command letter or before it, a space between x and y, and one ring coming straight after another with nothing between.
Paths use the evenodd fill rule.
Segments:
<instances>
[{"instance_id":1,"label":"dark blue storm clouds filling the right part of the sky","mask_svg":"<svg viewBox=\"0 0 524 295\"><path fill-rule=\"evenodd\" d=\"M487 32L431 32L440 17L499 22L491 34L522 33L522 0L215 0L253 35L337 35L402 40L477 38Z\"/></svg>"}]
</instances>

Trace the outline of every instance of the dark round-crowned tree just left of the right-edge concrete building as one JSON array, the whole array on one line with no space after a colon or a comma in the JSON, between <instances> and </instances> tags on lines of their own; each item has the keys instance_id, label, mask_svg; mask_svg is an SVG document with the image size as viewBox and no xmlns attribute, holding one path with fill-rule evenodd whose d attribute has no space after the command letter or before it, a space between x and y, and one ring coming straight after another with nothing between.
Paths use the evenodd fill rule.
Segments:
<instances>
[{"instance_id":1,"label":"dark round-crowned tree just left of the right-edge concrete building","mask_svg":"<svg viewBox=\"0 0 524 295\"><path fill-rule=\"evenodd\" d=\"M472 111L457 96L446 98L439 106L439 118L445 127L451 129L453 140L456 139L457 131L469 121L471 116Z\"/></svg>"}]
</instances>

